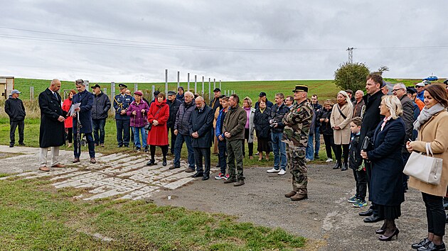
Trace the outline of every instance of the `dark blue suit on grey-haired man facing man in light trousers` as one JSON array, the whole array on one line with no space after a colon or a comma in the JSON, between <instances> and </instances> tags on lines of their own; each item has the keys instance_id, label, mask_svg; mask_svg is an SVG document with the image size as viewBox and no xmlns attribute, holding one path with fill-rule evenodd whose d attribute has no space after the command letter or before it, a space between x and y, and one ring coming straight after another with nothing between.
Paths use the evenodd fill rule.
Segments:
<instances>
[{"instance_id":1,"label":"dark blue suit on grey-haired man facing man in light trousers","mask_svg":"<svg viewBox=\"0 0 448 251\"><path fill-rule=\"evenodd\" d=\"M92 106L93 106L93 94L84 90L78 94L73 95L73 104L80 103L80 111L76 117L73 117L73 145L75 147L73 152L75 157L79 158L81 155L81 143L78 143L78 133L84 133L89 146L90 157L95 157L95 141L92 135ZM79 115L79 118L78 118ZM81 124L81 128L78 129L78 121Z\"/></svg>"}]
</instances>

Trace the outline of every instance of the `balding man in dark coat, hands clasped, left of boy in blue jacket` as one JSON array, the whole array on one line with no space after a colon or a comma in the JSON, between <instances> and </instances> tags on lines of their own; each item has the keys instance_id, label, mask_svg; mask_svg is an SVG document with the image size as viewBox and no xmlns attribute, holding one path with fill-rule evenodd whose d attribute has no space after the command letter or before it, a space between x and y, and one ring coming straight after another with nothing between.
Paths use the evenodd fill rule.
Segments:
<instances>
[{"instance_id":1,"label":"balding man in dark coat, hands clasped, left of boy in blue jacket","mask_svg":"<svg viewBox=\"0 0 448 251\"><path fill-rule=\"evenodd\" d=\"M210 106L206 105L202 96L198 96L195 103L196 109L191 113L188 122L196 163L196 174L193 174L193 178L202 177L202 180L207 180L210 177L210 147L213 140L212 128L215 113ZM202 159L205 162L205 169L202 167Z\"/></svg>"}]
</instances>

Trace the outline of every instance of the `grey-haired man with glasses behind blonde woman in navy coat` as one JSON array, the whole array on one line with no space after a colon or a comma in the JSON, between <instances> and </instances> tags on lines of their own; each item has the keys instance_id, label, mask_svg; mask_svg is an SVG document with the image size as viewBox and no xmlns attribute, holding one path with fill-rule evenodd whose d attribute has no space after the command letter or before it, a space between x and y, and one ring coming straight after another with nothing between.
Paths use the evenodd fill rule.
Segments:
<instances>
[{"instance_id":1,"label":"grey-haired man with glasses behind blonde woman in navy coat","mask_svg":"<svg viewBox=\"0 0 448 251\"><path fill-rule=\"evenodd\" d=\"M401 155L403 157L403 164L406 164L407 159L409 159L410 153L406 149L406 142L412 138L412 130L414 129L414 105L411 99L406 94L406 86L403 83L397 83L393 86L393 94L400 99L401 106L403 109L403 114L401 116L403 122L405 122L406 137L405 145L402 147ZM407 190L407 175L404 175L403 187Z\"/></svg>"}]
</instances>

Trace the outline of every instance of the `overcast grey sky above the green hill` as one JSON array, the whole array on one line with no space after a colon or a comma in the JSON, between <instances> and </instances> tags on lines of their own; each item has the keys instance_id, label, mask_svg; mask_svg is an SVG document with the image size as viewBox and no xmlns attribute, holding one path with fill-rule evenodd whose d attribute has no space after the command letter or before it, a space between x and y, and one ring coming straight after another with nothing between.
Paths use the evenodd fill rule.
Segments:
<instances>
[{"instance_id":1,"label":"overcast grey sky above the green hill","mask_svg":"<svg viewBox=\"0 0 448 251\"><path fill-rule=\"evenodd\" d=\"M448 77L448 1L0 0L0 75L90 82ZM38 31L38 32L36 32Z\"/></svg>"}]
</instances>

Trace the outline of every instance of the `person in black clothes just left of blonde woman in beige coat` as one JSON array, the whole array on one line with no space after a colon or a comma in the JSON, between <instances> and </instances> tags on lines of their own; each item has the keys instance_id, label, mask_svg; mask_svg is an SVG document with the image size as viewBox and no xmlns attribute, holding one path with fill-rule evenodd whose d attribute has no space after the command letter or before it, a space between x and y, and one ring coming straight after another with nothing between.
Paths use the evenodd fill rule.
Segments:
<instances>
[{"instance_id":1,"label":"person in black clothes just left of blonde woman in beige coat","mask_svg":"<svg viewBox=\"0 0 448 251\"><path fill-rule=\"evenodd\" d=\"M333 138L333 128L331 128L330 117L331 109L333 108L333 102L327 99L324 102L324 109L319 114L319 121L321 121L321 127L319 128L319 133L324 135L325 150L326 150L326 161L332 162L333 155L331 154L331 149L334 150L334 138Z\"/></svg>"}]
</instances>

